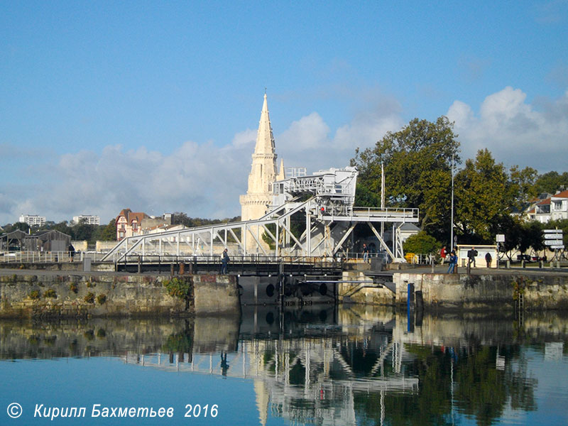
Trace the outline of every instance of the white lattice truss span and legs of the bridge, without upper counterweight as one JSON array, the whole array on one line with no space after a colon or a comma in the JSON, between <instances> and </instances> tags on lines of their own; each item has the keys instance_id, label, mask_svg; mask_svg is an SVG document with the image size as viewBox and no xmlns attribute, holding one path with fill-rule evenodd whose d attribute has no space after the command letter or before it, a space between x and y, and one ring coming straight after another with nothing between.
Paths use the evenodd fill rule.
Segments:
<instances>
[{"instance_id":1,"label":"white lattice truss span and legs of the bridge, without upper counterweight","mask_svg":"<svg viewBox=\"0 0 568 426\"><path fill-rule=\"evenodd\" d=\"M166 231L160 234L131 236L117 244L103 260L119 262L125 256L138 254L146 255L176 255L200 256L203 253L212 256L215 253L214 244L226 248L234 244L239 254L263 254L265 256L334 256L342 249L347 237L352 233L356 224L366 222L373 234L378 238L381 247L396 261L404 261L402 240L399 226L395 231L394 250L387 246L378 234L373 223L403 224L418 222L418 209L370 209L357 208L344 215L332 215L317 212L314 208L314 198L305 202L290 202L288 206L280 206L267 213L261 219L244 222L229 222L183 229L181 231ZM288 211L286 211L288 210ZM290 229L290 217L293 214L304 214L306 230L301 236L295 236ZM343 223L342 226L337 226ZM269 229L272 226L272 230ZM344 229L342 229L344 228ZM273 251L266 251L263 245L262 229L266 239L274 245ZM336 235L334 235L336 234ZM229 236L233 241L229 241ZM246 249L246 239L253 238L255 249Z\"/></svg>"}]
</instances>

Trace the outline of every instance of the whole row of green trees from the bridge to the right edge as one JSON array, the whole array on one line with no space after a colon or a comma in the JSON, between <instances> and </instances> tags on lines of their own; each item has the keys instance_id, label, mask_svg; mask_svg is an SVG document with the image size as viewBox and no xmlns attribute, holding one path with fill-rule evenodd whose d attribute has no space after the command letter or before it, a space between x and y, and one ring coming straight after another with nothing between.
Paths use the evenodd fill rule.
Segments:
<instances>
[{"instance_id":1,"label":"whole row of green trees from the bridge to the right edge","mask_svg":"<svg viewBox=\"0 0 568 426\"><path fill-rule=\"evenodd\" d=\"M543 192L555 194L567 189L568 172L539 174L534 168L518 165L507 170L487 148L460 167L460 143L453 127L445 116L435 122L413 119L400 131L386 133L375 146L362 151L357 148L351 159L351 165L359 170L355 205L381 206L382 165L386 207L420 208L422 237L430 237L435 246L447 245L453 172L454 235L460 244L493 244L496 234L505 234L508 250L542 250L543 227L565 229L566 239L568 221L543 226L525 222L515 213Z\"/></svg>"}]
</instances>

